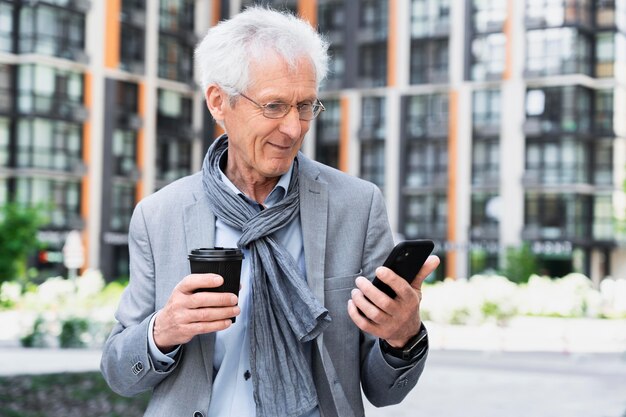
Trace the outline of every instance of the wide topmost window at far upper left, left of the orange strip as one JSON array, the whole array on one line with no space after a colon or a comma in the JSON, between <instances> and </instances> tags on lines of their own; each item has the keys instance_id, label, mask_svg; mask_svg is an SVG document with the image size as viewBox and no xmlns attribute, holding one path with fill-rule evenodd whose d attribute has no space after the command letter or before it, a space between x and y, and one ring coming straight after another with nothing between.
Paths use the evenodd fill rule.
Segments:
<instances>
[{"instance_id":1,"label":"wide topmost window at far upper left, left of the orange strip","mask_svg":"<svg viewBox=\"0 0 626 417\"><path fill-rule=\"evenodd\" d=\"M43 2L23 4L19 51L84 60L85 14Z\"/></svg>"}]
</instances>

